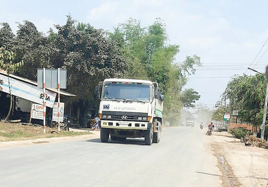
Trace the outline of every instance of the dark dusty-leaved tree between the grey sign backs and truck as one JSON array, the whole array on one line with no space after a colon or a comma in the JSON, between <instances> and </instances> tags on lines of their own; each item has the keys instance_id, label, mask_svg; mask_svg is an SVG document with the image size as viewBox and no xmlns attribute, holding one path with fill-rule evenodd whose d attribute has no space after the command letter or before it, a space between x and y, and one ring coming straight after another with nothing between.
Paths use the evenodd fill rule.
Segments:
<instances>
[{"instance_id":1,"label":"dark dusty-leaved tree between the grey sign backs and truck","mask_svg":"<svg viewBox=\"0 0 268 187\"><path fill-rule=\"evenodd\" d=\"M51 62L55 68L65 68L68 72L67 91L77 97L72 98L80 106L80 122L93 106L97 106L94 86L106 78L121 78L128 69L130 58L119 40L89 24L77 30L76 20L67 16L65 25L56 25L57 34L50 33L60 59L53 55ZM86 88L86 89L85 89Z\"/></svg>"}]
</instances>

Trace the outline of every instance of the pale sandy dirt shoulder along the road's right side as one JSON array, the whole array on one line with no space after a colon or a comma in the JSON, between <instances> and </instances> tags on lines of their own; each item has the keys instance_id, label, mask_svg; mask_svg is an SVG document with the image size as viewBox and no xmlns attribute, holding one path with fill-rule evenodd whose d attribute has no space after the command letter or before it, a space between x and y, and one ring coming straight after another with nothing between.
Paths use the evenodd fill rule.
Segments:
<instances>
[{"instance_id":1,"label":"pale sandy dirt shoulder along the road's right side","mask_svg":"<svg viewBox=\"0 0 268 187\"><path fill-rule=\"evenodd\" d=\"M227 132L206 138L218 159L223 187L268 187L268 149L247 147Z\"/></svg>"}]
</instances>

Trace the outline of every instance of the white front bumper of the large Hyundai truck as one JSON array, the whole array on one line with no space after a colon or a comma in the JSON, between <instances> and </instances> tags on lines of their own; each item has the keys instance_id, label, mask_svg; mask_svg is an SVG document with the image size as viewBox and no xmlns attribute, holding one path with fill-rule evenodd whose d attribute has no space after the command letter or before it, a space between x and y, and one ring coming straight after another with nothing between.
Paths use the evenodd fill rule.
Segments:
<instances>
[{"instance_id":1,"label":"white front bumper of the large Hyundai truck","mask_svg":"<svg viewBox=\"0 0 268 187\"><path fill-rule=\"evenodd\" d=\"M122 124L126 123L126 124ZM99 127L110 129L126 129L126 130L148 130L151 129L152 123L142 121L112 121L112 120L100 120Z\"/></svg>"}]
</instances>

